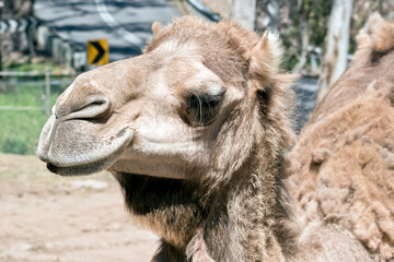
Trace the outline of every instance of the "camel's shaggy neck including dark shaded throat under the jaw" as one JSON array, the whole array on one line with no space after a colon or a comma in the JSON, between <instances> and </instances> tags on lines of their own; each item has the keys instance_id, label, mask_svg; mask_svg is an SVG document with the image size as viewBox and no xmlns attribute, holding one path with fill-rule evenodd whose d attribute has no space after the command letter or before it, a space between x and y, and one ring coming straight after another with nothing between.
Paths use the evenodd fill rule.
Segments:
<instances>
[{"instance_id":1,"label":"camel's shaggy neck including dark shaded throat under the jaw","mask_svg":"<svg viewBox=\"0 0 394 262\"><path fill-rule=\"evenodd\" d=\"M278 227L278 219L287 217L280 200L280 171L279 162L245 165L204 205L198 204L200 196L189 181L131 174L115 177L130 212L162 237L162 250L186 258L187 245L201 231L216 261L280 261L277 235L286 231Z\"/></svg>"}]
</instances>

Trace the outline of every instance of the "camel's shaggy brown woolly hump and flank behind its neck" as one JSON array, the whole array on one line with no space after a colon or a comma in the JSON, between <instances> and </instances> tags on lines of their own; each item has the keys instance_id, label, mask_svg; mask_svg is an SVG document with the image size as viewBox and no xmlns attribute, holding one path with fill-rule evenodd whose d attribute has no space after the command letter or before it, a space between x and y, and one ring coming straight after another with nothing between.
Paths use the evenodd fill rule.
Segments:
<instances>
[{"instance_id":1,"label":"camel's shaggy brown woolly hump and flank behind its neck","mask_svg":"<svg viewBox=\"0 0 394 262\"><path fill-rule=\"evenodd\" d=\"M379 14L301 132L289 189L304 225L340 225L374 261L394 259L394 23Z\"/></svg>"}]
</instances>

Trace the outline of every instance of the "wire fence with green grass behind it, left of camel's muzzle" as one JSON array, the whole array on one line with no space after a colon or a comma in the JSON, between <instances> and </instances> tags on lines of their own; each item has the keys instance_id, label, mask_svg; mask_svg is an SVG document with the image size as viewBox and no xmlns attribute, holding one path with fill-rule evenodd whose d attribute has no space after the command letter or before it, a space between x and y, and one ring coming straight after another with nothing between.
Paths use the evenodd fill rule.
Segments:
<instances>
[{"instance_id":1,"label":"wire fence with green grass behind it, left of camel's muzzle","mask_svg":"<svg viewBox=\"0 0 394 262\"><path fill-rule=\"evenodd\" d=\"M0 72L0 152L34 154L57 97L74 74Z\"/></svg>"}]
</instances>

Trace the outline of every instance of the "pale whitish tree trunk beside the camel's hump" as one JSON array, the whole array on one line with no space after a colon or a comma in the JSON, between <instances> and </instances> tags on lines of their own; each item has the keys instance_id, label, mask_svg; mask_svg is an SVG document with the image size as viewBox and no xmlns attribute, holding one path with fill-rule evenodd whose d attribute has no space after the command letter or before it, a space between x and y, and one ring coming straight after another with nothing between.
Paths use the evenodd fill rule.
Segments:
<instances>
[{"instance_id":1,"label":"pale whitish tree trunk beside the camel's hump","mask_svg":"<svg viewBox=\"0 0 394 262\"><path fill-rule=\"evenodd\" d=\"M317 81L321 100L347 67L352 0L334 0L329 15L325 55Z\"/></svg>"}]
</instances>

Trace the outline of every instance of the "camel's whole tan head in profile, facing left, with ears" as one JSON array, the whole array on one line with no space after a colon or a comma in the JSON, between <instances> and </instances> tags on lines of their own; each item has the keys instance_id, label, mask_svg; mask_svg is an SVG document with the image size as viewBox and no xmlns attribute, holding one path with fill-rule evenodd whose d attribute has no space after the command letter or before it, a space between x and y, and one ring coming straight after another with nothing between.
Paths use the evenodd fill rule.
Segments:
<instances>
[{"instance_id":1,"label":"camel's whole tan head in profile, facing left, with ears","mask_svg":"<svg viewBox=\"0 0 394 262\"><path fill-rule=\"evenodd\" d=\"M291 78L276 36L194 17L152 29L141 56L85 72L59 96L37 150L50 171L192 179L235 170L266 134L274 152L287 145Z\"/></svg>"}]
</instances>

